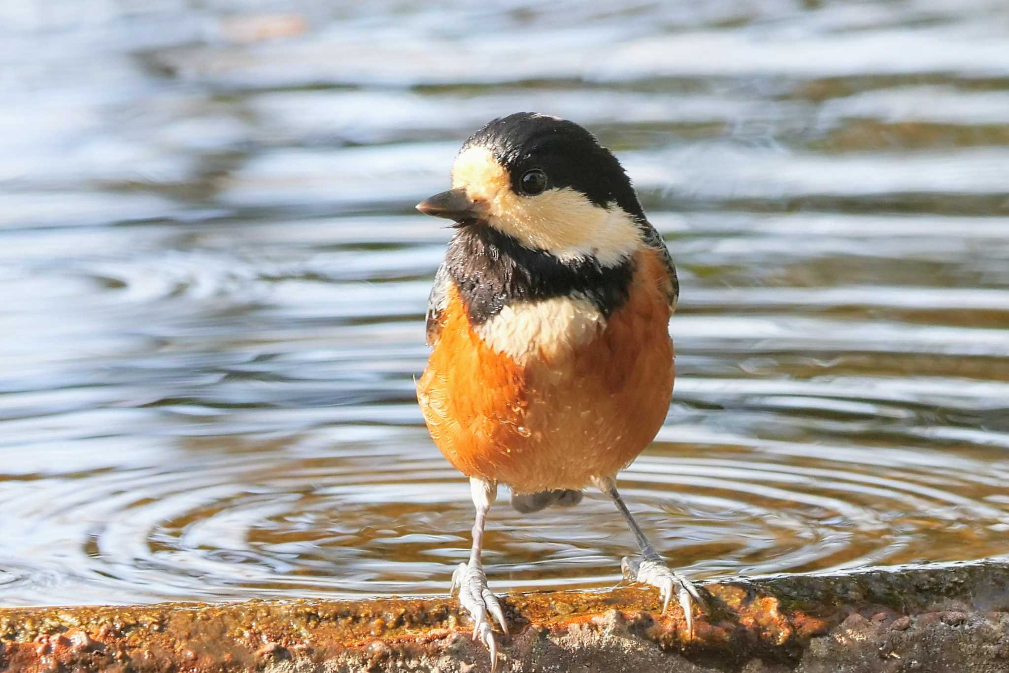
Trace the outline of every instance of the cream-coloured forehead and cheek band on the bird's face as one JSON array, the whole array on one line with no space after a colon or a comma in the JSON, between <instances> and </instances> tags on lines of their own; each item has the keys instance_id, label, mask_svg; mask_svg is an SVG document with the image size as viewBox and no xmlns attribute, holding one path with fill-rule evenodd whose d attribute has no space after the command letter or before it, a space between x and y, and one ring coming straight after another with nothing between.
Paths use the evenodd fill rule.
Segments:
<instances>
[{"instance_id":1,"label":"cream-coloured forehead and cheek band on the bird's face","mask_svg":"<svg viewBox=\"0 0 1009 673\"><path fill-rule=\"evenodd\" d=\"M471 201L482 204L490 226L561 259L594 255L601 264L613 265L642 242L634 219L616 204L600 208L576 190L549 185L536 196L516 194L508 171L486 147L460 152L452 166L452 189L465 189Z\"/></svg>"}]
</instances>

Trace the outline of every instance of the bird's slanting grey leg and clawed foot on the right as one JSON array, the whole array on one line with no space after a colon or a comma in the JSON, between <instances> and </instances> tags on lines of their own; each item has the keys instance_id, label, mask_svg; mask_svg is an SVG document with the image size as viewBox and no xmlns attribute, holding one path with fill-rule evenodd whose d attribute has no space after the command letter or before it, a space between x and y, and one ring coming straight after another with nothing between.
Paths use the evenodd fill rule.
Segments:
<instances>
[{"instance_id":1,"label":"bird's slanting grey leg and clawed foot on the right","mask_svg":"<svg viewBox=\"0 0 1009 673\"><path fill-rule=\"evenodd\" d=\"M663 613L669 607L669 599L672 597L673 590L675 589L679 597L680 606L683 608L683 615L687 622L687 633L693 637L693 614L691 613L691 607L693 601L696 601L698 606L703 609L704 598L701 597L697 588L690 583L690 580L676 571L670 570L663 562L662 557L655 551L655 547L645 537L645 532L641 530L638 522L631 516L631 511L624 503L624 498L616 491L616 481L612 477L598 477L595 479L595 485L599 490L608 495L609 499L616 506L616 510L624 516L624 519L634 532L634 537L638 540L638 548L641 549L641 559L628 556L621 561L621 569L625 577L628 577L632 581L651 584L657 587L659 589L659 597L662 599Z\"/></svg>"}]
</instances>

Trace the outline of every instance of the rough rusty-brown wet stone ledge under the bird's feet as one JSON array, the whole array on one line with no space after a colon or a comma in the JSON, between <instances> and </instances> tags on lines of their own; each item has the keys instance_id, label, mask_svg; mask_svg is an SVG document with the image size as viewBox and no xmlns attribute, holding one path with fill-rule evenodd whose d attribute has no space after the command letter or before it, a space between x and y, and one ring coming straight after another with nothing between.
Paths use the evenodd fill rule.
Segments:
<instances>
[{"instance_id":1,"label":"rough rusty-brown wet stone ledge under the bird's feet","mask_svg":"<svg viewBox=\"0 0 1009 673\"><path fill-rule=\"evenodd\" d=\"M1009 672L1009 563L709 584L686 633L654 590L503 600L498 670ZM0 671L489 670L448 599L248 601L0 610Z\"/></svg>"}]
</instances>

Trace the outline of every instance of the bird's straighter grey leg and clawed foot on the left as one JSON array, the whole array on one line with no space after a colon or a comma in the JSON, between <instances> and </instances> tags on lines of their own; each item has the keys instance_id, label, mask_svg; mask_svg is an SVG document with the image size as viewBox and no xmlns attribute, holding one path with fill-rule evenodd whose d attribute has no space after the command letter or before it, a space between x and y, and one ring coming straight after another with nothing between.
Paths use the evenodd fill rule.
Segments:
<instances>
[{"instance_id":1,"label":"bird's straighter grey leg and clawed foot on the left","mask_svg":"<svg viewBox=\"0 0 1009 673\"><path fill-rule=\"evenodd\" d=\"M490 503L497 496L497 484L476 477L469 478L469 489L476 506L476 521L473 522L473 548L469 553L469 563L460 563L452 573L450 594L459 591L459 604L473 619L473 638L479 638L490 652L491 673L497 665L497 646L494 643L493 628L487 616L489 612L501 631L508 635L508 625L504 623L504 612L497 598L487 587L487 576L480 564L480 551L483 549L483 525L487 519Z\"/></svg>"}]
</instances>

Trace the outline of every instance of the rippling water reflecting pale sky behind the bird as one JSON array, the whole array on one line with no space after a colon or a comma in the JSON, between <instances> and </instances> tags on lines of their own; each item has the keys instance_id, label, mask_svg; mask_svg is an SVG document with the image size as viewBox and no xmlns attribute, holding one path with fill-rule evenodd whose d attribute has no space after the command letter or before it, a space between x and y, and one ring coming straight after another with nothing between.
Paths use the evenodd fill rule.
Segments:
<instances>
[{"instance_id":1,"label":"rippling water reflecting pale sky behind the bird","mask_svg":"<svg viewBox=\"0 0 1009 673\"><path fill-rule=\"evenodd\" d=\"M618 150L680 268L622 479L672 564L1009 553L1004 3L283 4L0 8L0 603L444 592L412 206L523 109ZM594 495L486 543L498 590L634 546Z\"/></svg>"}]
</instances>

